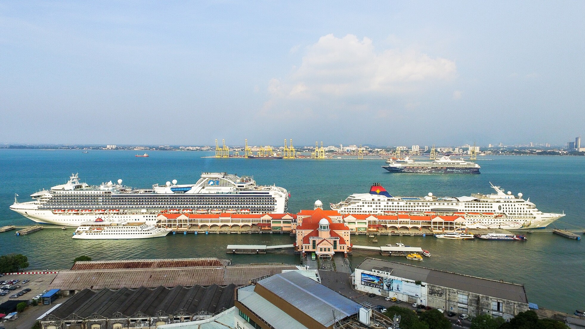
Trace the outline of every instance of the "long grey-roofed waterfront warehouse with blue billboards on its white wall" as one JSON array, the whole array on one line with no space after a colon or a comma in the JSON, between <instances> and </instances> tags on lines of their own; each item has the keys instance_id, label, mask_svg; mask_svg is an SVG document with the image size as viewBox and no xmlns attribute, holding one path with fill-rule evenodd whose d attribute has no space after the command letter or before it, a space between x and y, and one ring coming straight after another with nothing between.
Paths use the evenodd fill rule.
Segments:
<instances>
[{"instance_id":1,"label":"long grey-roofed waterfront warehouse with blue billboards on its white wall","mask_svg":"<svg viewBox=\"0 0 585 329\"><path fill-rule=\"evenodd\" d=\"M528 310L523 285L366 258L352 274L356 290L433 309L510 319Z\"/></svg>"}]
</instances>

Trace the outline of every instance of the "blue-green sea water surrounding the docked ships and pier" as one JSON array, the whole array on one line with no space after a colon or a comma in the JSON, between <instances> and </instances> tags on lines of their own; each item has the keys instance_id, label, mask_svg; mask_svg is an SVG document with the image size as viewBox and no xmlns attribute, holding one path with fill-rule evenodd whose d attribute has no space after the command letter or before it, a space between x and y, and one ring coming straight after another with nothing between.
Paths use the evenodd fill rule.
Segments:
<instances>
[{"instance_id":1,"label":"blue-green sea water surrounding the docked ships and pier","mask_svg":"<svg viewBox=\"0 0 585 329\"><path fill-rule=\"evenodd\" d=\"M42 188L65 183L71 172L81 181L97 184L123 179L125 185L150 187L177 179L194 183L202 171L226 171L253 175L259 184L276 184L291 192L289 211L312 209L316 199L325 205L339 202L351 193L368 192L371 183L381 183L394 195L462 196L491 193L489 182L506 191L524 193L543 212L565 212L562 222L549 227L585 227L585 157L500 156L481 158L480 175L390 174L383 160L244 160L201 158L212 153L149 151L136 158L135 151L0 150L0 226L32 224L12 212L15 193L19 201ZM327 207L325 207L327 209ZM93 259L136 258L230 258L236 263L285 262L299 264L291 251L266 255L228 255L228 244L285 244L293 239L281 234L199 234L167 236L148 240L84 241L71 239L72 230L42 230L16 237L14 231L0 233L0 254L27 255L30 269L61 269L71 266L78 255ZM585 240L575 241L552 233L528 234L526 243L512 241L450 241L434 237L378 237L378 245L399 240L428 249L432 257L422 264L445 271L523 283L530 302L569 311L585 308ZM369 244L366 236L353 237L355 244ZM364 257L381 256L356 251L354 266ZM409 262L403 258L393 261Z\"/></svg>"}]
</instances>

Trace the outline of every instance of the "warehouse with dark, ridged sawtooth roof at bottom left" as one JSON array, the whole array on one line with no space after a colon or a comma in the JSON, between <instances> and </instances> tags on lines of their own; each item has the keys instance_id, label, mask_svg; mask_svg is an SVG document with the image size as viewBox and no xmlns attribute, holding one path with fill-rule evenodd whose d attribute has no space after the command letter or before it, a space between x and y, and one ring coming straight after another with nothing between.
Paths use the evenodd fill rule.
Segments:
<instances>
[{"instance_id":1,"label":"warehouse with dark, ridged sawtooth roof at bottom left","mask_svg":"<svg viewBox=\"0 0 585 329\"><path fill-rule=\"evenodd\" d=\"M84 289L40 324L43 329L121 329L203 320L233 307L236 287Z\"/></svg>"}]
</instances>

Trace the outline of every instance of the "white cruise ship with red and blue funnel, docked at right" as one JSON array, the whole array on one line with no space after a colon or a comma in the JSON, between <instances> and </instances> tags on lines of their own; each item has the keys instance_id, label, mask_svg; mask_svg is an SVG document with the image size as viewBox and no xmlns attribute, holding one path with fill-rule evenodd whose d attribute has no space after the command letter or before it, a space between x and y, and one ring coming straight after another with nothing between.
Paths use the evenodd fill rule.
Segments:
<instances>
[{"instance_id":1,"label":"white cruise ship with red and blue funnel, docked at right","mask_svg":"<svg viewBox=\"0 0 585 329\"><path fill-rule=\"evenodd\" d=\"M491 185L491 183L490 183ZM510 191L504 192L500 186L491 185L496 193L472 196L437 197L391 196L380 184L371 186L370 193L350 195L345 201L331 203L331 209L342 214L411 214L461 216L467 228L503 228L518 230L541 228L565 216L564 213L543 213L536 205L522 199Z\"/></svg>"}]
</instances>

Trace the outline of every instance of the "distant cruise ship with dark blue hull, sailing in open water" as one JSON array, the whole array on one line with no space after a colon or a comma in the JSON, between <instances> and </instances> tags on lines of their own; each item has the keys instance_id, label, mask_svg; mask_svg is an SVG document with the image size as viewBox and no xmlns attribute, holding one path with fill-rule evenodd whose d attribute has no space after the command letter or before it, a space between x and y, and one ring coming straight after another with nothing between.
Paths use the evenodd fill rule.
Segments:
<instances>
[{"instance_id":1,"label":"distant cruise ship with dark blue hull, sailing in open water","mask_svg":"<svg viewBox=\"0 0 585 329\"><path fill-rule=\"evenodd\" d=\"M409 174L479 174L479 164L463 159L442 157L433 161L414 161L409 157L404 159L388 159L388 165L382 168L390 172L408 172Z\"/></svg>"}]
</instances>

